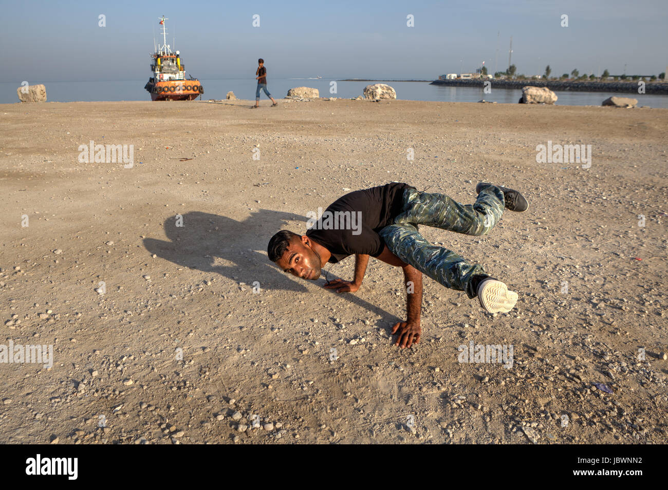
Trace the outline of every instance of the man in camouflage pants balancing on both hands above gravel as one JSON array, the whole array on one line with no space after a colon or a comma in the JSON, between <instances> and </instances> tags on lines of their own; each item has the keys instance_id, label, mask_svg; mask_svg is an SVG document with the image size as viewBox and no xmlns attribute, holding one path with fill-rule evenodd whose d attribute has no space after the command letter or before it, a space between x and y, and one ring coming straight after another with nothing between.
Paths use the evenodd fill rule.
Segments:
<instances>
[{"instance_id":1,"label":"man in camouflage pants balancing on both hands above gravel","mask_svg":"<svg viewBox=\"0 0 668 490\"><path fill-rule=\"evenodd\" d=\"M479 264L429 243L418 225L466 235L486 235L504 208L525 211L526 199L506 187L481 182L474 204L462 205L444 194L420 192L405 183L389 183L351 192L334 201L306 235L281 230L269 241L267 254L284 272L315 281L325 263L355 254L353 281L329 281L337 293L355 292L362 284L369 255L401 267L407 289L406 321L396 323L395 345L410 347L420 341L422 273L445 287L465 291L489 313L508 313L518 295L487 275Z\"/></svg>"}]
</instances>

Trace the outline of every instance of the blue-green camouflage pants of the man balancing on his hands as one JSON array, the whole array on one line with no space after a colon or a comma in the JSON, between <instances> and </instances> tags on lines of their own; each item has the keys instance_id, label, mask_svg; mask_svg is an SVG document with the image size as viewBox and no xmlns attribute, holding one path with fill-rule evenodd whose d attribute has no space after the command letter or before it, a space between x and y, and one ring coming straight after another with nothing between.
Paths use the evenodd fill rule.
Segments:
<instances>
[{"instance_id":1,"label":"blue-green camouflage pants of the man balancing on his hands","mask_svg":"<svg viewBox=\"0 0 668 490\"><path fill-rule=\"evenodd\" d=\"M466 235L486 235L504 211L501 189L487 185L481 189L474 204L462 205L444 194L403 191L402 212L393 224L379 235L387 248L399 259L450 289L466 291L476 297L476 275L486 275L482 265L470 264L445 247L429 243L418 232L418 225L427 225ZM476 283L477 284L477 283Z\"/></svg>"}]
</instances>

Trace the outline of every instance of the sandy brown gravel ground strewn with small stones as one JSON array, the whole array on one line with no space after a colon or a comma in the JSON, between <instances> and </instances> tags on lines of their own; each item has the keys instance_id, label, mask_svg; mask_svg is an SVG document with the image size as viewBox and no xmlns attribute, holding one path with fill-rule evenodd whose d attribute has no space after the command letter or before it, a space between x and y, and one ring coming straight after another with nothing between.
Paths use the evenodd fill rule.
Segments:
<instances>
[{"instance_id":1,"label":"sandy brown gravel ground strewn with small stones","mask_svg":"<svg viewBox=\"0 0 668 490\"><path fill-rule=\"evenodd\" d=\"M53 345L51 368L0 363L1 443L668 441L667 110L251 103L0 106L0 343ZM79 163L90 140L134 166ZM591 168L536 163L548 140L592 145ZM371 259L337 295L267 259L347 189L472 203L480 180L530 209L422 229L520 299L488 315L425 279L417 348L389 335L400 269ZM460 363L470 341L512 367Z\"/></svg>"}]
</instances>

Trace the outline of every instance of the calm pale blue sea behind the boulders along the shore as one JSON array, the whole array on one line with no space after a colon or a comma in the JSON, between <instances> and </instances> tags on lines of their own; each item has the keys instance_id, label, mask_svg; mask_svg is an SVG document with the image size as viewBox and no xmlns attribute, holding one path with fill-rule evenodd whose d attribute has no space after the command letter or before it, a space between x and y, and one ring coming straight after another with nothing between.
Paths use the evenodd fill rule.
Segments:
<instances>
[{"instance_id":1,"label":"calm pale blue sea behind the boulders along the shore","mask_svg":"<svg viewBox=\"0 0 668 490\"><path fill-rule=\"evenodd\" d=\"M47 100L53 102L73 101L148 101L150 96L144 90L145 79L134 81L99 81L99 82L43 82L46 86ZM250 79L202 79L204 95L202 100L224 99L228 91L233 91L238 99L255 99L256 82ZM31 83L40 83L39 81ZM350 99L362 95L369 83L362 81L337 81L336 93L331 93L329 79L268 79L267 88L275 99L283 99L288 89L293 87L313 87L320 91L321 97L342 97ZM397 99L413 101L477 102L480 99L498 103L515 104L520 99L520 89L500 89L492 85L492 93L483 93L472 87L444 87L430 85L427 82L387 82L395 91ZM492 82L493 83L493 82ZM21 82L0 83L0 103L18 102L17 87ZM624 94L607 92L562 92L557 91L557 105L601 105L611 95L633 97L638 105L668 108L668 95ZM261 101L268 100L261 93Z\"/></svg>"}]
</instances>

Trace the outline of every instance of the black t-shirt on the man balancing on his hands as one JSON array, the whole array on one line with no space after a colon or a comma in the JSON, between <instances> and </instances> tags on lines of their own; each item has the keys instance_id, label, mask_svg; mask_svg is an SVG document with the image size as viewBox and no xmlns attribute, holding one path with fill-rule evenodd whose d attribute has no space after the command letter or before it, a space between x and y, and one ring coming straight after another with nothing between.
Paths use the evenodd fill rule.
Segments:
<instances>
[{"instance_id":1,"label":"black t-shirt on the man balancing on his hands","mask_svg":"<svg viewBox=\"0 0 668 490\"><path fill-rule=\"evenodd\" d=\"M377 257L385 248L378 231L401 213L404 189L415 187L393 182L341 196L320 219L312 219L315 224L306 236L331 252L331 263L353 254Z\"/></svg>"}]
</instances>

